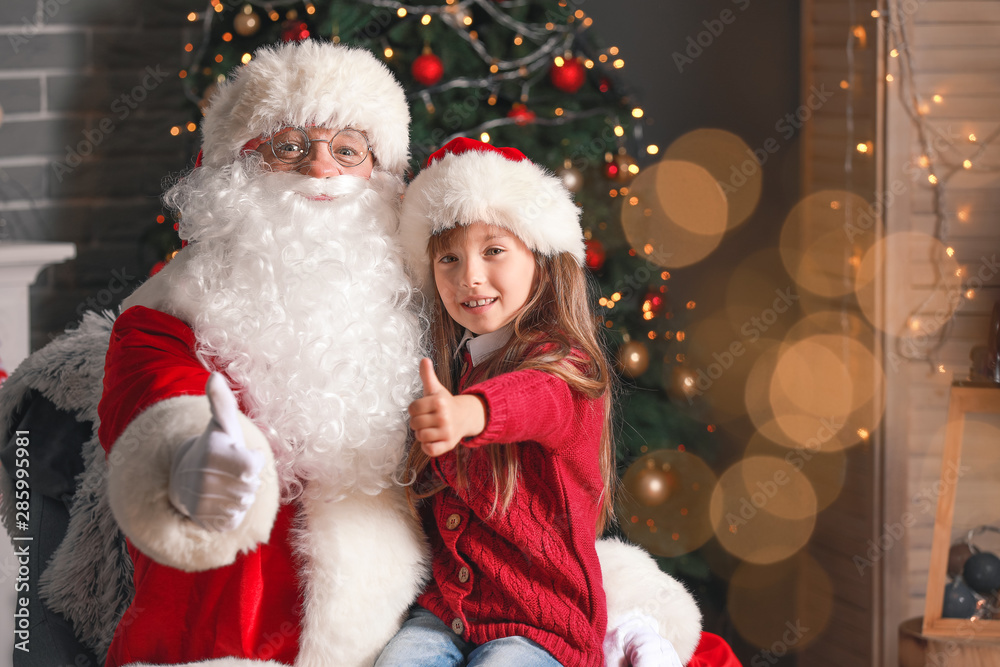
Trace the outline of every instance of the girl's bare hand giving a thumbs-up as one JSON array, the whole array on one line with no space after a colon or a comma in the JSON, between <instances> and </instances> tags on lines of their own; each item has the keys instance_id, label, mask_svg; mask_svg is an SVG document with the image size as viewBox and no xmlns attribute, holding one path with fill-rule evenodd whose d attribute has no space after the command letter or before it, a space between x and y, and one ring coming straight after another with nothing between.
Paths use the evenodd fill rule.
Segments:
<instances>
[{"instance_id":1,"label":"girl's bare hand giving a thumbs-up","mask_svg":"<svg viewBox=\"0 0 1000 667\"><path fill-rule=\"evenodd\" d=\"M430 359L420 360L424 397L410 403L410 428L430 457L455 449L462 438L486 427L486 407L477 396L453 396L434 373Z\"/></svg>"}]
</instances>

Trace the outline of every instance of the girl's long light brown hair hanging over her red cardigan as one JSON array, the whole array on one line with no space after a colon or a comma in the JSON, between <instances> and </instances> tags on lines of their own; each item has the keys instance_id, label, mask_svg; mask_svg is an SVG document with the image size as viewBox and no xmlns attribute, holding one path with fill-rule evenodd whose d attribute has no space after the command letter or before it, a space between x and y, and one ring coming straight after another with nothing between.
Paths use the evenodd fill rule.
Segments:
<instances>
[{"instance_id":1,"label":"girl's long light brown hair hanging over her red cardigan","mask_svg":"<svg viewBox=\"0 0 1000 667\"><path fill-rule=\"evenodd\" d=\"M467 227L458 225L428 241L427 251L433 258L439 256L465 234ZM604 404L604 423L601 428L600 469L603 492L599 499L597 532L600 534L614 519L614 494L616 473L614 442L612 440L613 376L598 338L595 314L587 290L587 276L583 268L569 253L553 257L532 253L535 257L535 288L527 303L513 320L510 339L499 350L476 366L472 381L481 382L503 373L534 369L551 373L564 380L572 390L589 398L600 399ZM435 291L431 320L431 357L441 383L454 393L458 384L460 361L455 351L463 330L448 314ZM493 471L493 488L496 490L493 509L506 512L514 497L520 474L517 447L491 444L485 447ZM457 450L458 484L465 487L467 461L463 448ZM444 484L433 481L426 474L430 457L424 454L419 443L410 448L406 478L416 480L407 487L407 499L416 511L416 504L441 491Z\"/></svg>"}]
</instances>

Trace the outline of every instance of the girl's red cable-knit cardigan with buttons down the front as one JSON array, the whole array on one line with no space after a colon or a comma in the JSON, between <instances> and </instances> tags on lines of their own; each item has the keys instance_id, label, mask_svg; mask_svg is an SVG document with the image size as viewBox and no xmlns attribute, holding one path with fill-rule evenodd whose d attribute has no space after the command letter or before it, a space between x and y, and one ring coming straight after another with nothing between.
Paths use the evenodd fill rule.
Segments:
<instances>
[{"instance_id":1,"label":"girl's red cable-knit cardigan with buttons down the front","mask_svg":"<svg viewBox=\"0 0 1000 667\"><path fill-rule=\"evenodd\" d=\"M468 387L486 427L434 460L447 488L433 496L425 528L433 579L419 603L476 644L531 639L565 665L603 667L607 605L594 548L604 408L542 371L505 373ZM521 475L506 513L493 512L483 445L516 443ZM467 488L456 456L467 457Z\"/></svg>"}]
</instances>

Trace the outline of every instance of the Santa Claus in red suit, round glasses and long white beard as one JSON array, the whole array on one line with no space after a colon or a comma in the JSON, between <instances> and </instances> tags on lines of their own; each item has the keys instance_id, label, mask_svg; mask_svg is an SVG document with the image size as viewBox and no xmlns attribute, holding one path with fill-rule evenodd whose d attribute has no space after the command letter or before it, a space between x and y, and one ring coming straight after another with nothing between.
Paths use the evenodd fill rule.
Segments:
<instances>
[{"instance_id":1,"label":"Santa Claus in red suit, round glasses and long white beard","mask_svg":"<svg viewBox=\"0 0 1000 667\"><path fill-rule=\"evenodd\" d=\"M261 50L219 87L165 196L188 244L110 331L106 460L78 491L106 488L134 564L108 666L370 665L420 591L396 477L424 328L394 239L408 123L391 73L332 44ZM103 344L97 318L81 331ZM51 596L98 524L76 511ZM634 547L599 552L611 654L661 655L658 630L686 662L691 596Z\"/></svg>"}]
</instances>

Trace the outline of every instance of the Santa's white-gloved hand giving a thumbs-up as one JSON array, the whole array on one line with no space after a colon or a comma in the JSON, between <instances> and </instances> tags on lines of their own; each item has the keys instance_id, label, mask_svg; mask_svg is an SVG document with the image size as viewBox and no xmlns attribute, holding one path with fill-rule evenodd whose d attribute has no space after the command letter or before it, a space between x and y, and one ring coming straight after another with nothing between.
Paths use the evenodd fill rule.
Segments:
<instances>
[{"instance_id":1,"label":"Santa's white-gloved hand giving a thumbs-up","mask_svg":"<svg viewBox=\"0 0 1000 667\"><path fill-rule=\"evenodd\" d=\"M219 373L205 384L212 419L184 441L170 470L170 502L205 530L240 525L260 486L264 455L250 451L236 418L236 397Z\"/></svg>"}]
</instances>

